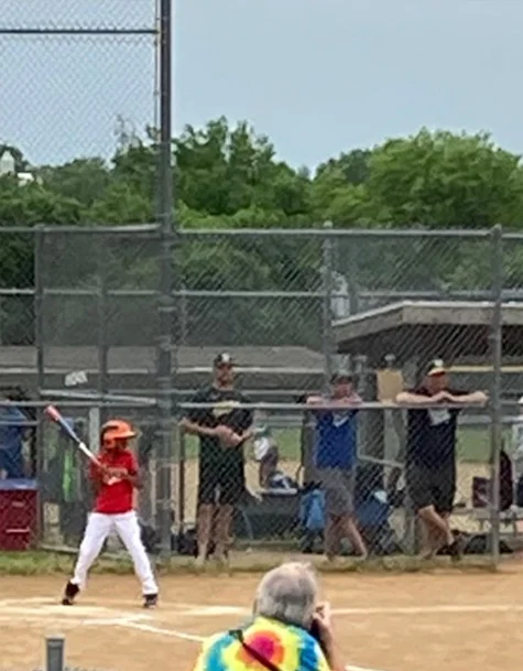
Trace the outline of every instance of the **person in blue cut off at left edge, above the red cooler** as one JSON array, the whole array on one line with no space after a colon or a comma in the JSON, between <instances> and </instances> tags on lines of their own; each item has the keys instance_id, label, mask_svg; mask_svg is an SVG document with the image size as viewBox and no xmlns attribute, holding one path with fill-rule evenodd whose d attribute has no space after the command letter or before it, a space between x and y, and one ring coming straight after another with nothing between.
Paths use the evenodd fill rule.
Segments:
<instances>
[{"instance_id":1,"label":"person in blue cut off at left edge, above the red cooler","mask_svg":"<svg viewBox=\"0 0 523 671\"><path fill-rule=\"evenodd\" d=\"M8 479L25 477L23 437L28 419L10 400L0 402L0 472Z\"/></svg>"}]
</instances>

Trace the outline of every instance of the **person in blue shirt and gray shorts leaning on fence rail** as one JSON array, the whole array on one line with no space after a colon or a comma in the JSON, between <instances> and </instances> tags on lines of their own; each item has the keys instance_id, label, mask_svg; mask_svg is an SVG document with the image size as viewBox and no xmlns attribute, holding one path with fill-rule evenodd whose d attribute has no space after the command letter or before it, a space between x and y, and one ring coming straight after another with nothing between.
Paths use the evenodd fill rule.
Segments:
<instances>
[{"instance_id":1,"label":"person in blue shirt and gray shorts leaning on fence rail","mask_svg":"<svg viewBox=\"0 0 523 671\"><path fill-rule=\"evenodd\" d=\"M327 397L307 398L316 418L315 466L325 490L325 554L333 561L339 554L341 540L347 538L364 559L367 548L355 516L357 405L361 399L349 374L337 372L330 382Z\"/></svg>"}]
</instances>

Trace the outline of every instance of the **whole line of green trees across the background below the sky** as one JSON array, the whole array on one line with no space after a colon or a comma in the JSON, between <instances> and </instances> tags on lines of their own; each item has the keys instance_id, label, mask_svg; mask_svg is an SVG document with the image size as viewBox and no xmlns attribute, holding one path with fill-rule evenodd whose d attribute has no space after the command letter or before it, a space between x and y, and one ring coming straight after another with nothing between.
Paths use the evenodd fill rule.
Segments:
<instances>
[{"instance_id":1,"label":"whole line of green trees across the background below the sky","mask_svg":"<svg viewBox=\"0 0 523 671\"><path fill-rule=\"evenodd\" d=\"M0 235L6 226L37 224L96 227L151 223L156 218L157 144L122 132L115 155L78 158L63 165L30 166L23 148L10 149L19 171L37 180L21 186L0 178ZM426 129L373 148L358 148L326 160L314 172L276 156L271 141L249 123L225 118L205 128L186 127L173 139L175 217L183 230L173 261L178 288L196 292L322 292L322 240L299 237L222 237L220 229L523 227L523 167L520 156L497 147L489 134L455 134ZM198 237L211 229L216 237ZM65 236L64 236L65 238ZM338 291L488 289L490 248L476 239L336 239L331 263ZM157 249L151 240L47 241L46 283L52 288L154 290ZM523 280L523 255L506 249L505 285ZM0 286L34 285L34 240L3 235ZM121 297L121 296L120 296ZM383 299L386 300L386 299ZM377 299L379 301L379 299ZM106 297L108 338L140 344L153 336L154 310L148 296ZM50 342L85 342L99 320L94 299L48 299ZM179 301L188 344L304 344L320 342L322 299L220 299L193 295ZM150 311L150 312L148 312ZM20 314L28 314L20 327ZM31 339L31 297L1 302L2 339ZM144 320L148 314L150 318ZM133 327L140 318L141 328ZM299 325L299 327L296 327ZM306 325L302 327L301 325ZM20 334L25 333L24 338ZM139 337L138 334L141 334ZM18 335L17 335L18 334ZM132 337L131 337L132 336Z\"/></svg>"}]
</instances>

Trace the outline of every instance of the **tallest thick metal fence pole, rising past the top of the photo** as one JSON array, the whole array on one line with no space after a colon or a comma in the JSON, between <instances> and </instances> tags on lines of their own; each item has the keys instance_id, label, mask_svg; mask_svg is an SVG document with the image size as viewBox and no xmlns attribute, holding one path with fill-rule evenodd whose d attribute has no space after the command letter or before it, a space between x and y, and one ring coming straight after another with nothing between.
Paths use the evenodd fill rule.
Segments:
<instances>
[{"instance_id":1,"label":"tallest thick metal fence pole, rising past the top of the photo","mask_svg":"<svg viewBox=\"0 0 523 671\"><path fill-rule=\"evenodd\" d=\"M160 191L159 224L161 227L157 403L161 439L157 459L157 520L162 556L171 554L171 462L173 456L173 166L172 166L172 0L160 6ZM173 360L174 358L174 360Z\"/></svg>"}]
</instances>

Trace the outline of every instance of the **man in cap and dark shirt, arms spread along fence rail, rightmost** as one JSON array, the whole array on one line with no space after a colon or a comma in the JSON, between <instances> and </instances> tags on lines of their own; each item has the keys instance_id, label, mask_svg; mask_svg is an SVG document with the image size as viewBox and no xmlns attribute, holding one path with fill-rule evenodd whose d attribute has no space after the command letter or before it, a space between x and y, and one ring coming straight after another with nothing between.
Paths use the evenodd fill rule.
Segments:
<instances>
[{"instance_id":1,"label":"man in cap and dark shirt, arms spread along fence rail, rightmost","mask_svg":"<svg viewBox=\"0 0 523 671\"><path fill-rule=\"evenodd\" d=\"M447 546L451 556L460 552L448 518L456 494L456 430L464 405L487 402L482 391L458 391L449 387L444 362L431 364L420 387L397 394L396 403L407 411L406 486L424 531L422 556L429 559ZM460 407L453 408L453 403ZM437 405L446 405L438 408ZM450 408L449 408L450 405Z\"/></svg>"}]
</instances>

